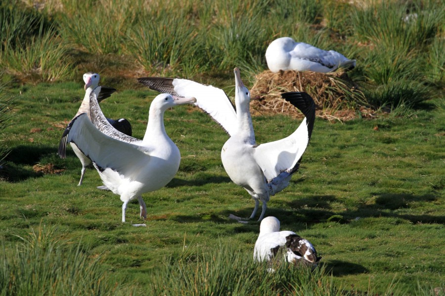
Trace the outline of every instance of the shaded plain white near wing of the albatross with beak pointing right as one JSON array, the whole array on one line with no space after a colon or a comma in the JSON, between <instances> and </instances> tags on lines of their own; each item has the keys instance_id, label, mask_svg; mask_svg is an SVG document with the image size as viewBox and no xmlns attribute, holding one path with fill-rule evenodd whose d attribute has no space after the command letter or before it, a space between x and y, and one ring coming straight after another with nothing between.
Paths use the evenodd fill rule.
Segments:
<instances>
[{"instance_id":1,"label":"shaded plain white near wing of the albatross with beak pointing right","mask_svg":"<svg viewBox=\"0 0 445 296\"><path fill-rule=\"evenodd\" d=\"M150 161L150 155L142 147L113 139L100 132L89 121L86 113L74 118L63 133L61 145L65 143L66 146L70 142L76 144L102 171L110 168L124 176L137 174L134 170L141 163Z\"/></svg>"}]
</instances>

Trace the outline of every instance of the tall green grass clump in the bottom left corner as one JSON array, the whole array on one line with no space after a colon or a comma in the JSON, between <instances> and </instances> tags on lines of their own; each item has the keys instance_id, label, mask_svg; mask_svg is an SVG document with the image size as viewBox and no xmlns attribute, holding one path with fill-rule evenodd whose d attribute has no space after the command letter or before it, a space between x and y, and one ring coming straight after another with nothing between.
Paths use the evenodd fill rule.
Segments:
<instances>
[{"instance_id":1,"label":"tall green grass clump in the bottom left corner","mask_svg":"<svg viewBox=\"0 0 445 296\"><path fill-rule=\"evenodd\" d=\"M20 237L15 249L2 246L0 295L116 295L118 285L108 281L99 257L89 259L60 239L55 227L40 226Z\"/></svg>"}]
</instances>

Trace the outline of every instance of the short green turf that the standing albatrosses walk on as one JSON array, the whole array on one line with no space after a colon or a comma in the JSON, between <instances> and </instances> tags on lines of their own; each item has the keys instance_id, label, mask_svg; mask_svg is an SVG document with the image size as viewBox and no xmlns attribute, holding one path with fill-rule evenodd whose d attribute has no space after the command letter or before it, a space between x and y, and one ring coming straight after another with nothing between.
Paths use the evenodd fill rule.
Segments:
<instances>
[{"instance_id":1,"label":"short green turf that the standing albatrosses walk on","mask_svg":"<svg viewBox=\"0 0 445 296\"><path fill-rule=\"evenodd\" d=\"M136 90L118 91L101 105L111 118L128 118L141 138L152 96L146 98L150 92L136 82L131 88ZM136 202L129 205L128 222L121 223L122 202L95 188L101 185L97 173L89 169L78 187L79 160L72 152L63 160L56 155L66 120L83 97L82 84L41 83L11 92L19 107L0 142L11 148L0 171L0 237L7 254L23 242L17 235L24 238L30 226L37 232L47 225L58 229L53 239L79 244L90 260L100 256L104 285L117 282L135 293L161 294L168 287L175 295L198 287L195 295L205 289L261 295L262 289L306 288L315 295L425 295L443 287L441 100L410 117L316 120L300 171L271 197L266 215L308 238L322 263L312 276L293 270L267 275L270 281L253 277L263 282L252 288L255 281L241 277L245 287L236 281L245 276L243 268L262 269L251 263L259 224L226 218L248 217L253 201L226 175L220 153L227 136L207 115L191 106L166 111L166 130L181 151L181 165L169 185L144 194L147 227L133 227L142 222ZM278 115L253 120L258 143L287 136L299 124ZM65 171L36 173L36 164ZM224 269L221 262L234 267ZM227 280L220 285L221 277ZM182 281L172 286L175 279Z\"/></svg>"}]
</instances>

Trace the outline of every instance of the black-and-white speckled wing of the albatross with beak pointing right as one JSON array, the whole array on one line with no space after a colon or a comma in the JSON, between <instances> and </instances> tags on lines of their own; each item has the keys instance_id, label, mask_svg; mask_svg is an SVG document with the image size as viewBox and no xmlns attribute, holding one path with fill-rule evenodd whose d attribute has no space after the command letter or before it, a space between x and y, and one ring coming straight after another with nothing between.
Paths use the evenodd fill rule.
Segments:
<instances>
[{"instance_id":1,"label":"black-and-white speckled wing of the albatross with beak pointing right","mask_svg":"<svg viewBox=\"0 0 445 296\"><path fill-rule=\"evenodd\" d=\"M107 91L108 88L105 89ZM124 133L121 133L117 129L115 129L110 122L108 122L105 115L102 113L102 110L100 109L99 103L97 102L97 99L101 96L102 92L104 91L103 86L97 86L94 88L94 90L89 95L89 114L91 116L91 121L94 124L94 126L104 133L107 136L110 136L111 138L127 142L127 143L137 143L140 142L139 139L127 136Z\"/></svg>"}]
</instances>

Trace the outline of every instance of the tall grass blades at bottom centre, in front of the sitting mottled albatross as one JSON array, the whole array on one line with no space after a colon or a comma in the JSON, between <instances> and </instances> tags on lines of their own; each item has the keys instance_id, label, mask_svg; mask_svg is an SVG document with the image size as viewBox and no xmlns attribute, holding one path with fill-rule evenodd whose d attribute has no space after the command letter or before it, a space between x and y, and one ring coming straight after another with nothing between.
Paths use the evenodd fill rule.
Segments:
<instances>
[{"instance_id":1,"label":"tall grass blades at bottom centre, in front of the sitting mottled albatross","mask_svg":"<svg viewBox=\"0 0 445 296\"><path fill-rule=\"evenodd\" d=\"M197 251L197 253L195 253ZM274 272L268 272L268 268ZM252 250L221 245L172 256L150 280L153 295L341 295L324 268L255 263ZM305 294L299 294L304 291ZM312 292L312 294L306 294Z\"/></svg>"}]
</instances>

